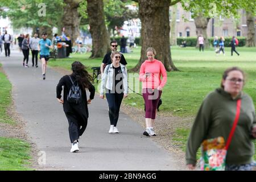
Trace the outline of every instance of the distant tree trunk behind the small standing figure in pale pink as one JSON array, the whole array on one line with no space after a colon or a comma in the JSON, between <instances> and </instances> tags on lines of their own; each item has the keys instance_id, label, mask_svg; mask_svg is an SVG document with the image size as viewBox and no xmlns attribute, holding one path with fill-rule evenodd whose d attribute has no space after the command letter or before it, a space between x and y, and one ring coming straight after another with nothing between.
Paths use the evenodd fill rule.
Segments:
<instances>
[{"instance_id":1,"label":"distant tree trunk behind the small standing figure in pale pink","mask_svg":"<svg viewBox=\"0 0 256 182\"><path fill-rule=\"evenodd\" d=\"M209 41L208 41L208 36L207 36L207 26L210 18L204 18L203 15L196 16L194 18L195 20L195 25L196 25L196 35L197 37L199 35L202 35L204 38L204 47L209 48ZM197 42L196 47L199 47L199 44Z\"/></svg>"}]
</instances>

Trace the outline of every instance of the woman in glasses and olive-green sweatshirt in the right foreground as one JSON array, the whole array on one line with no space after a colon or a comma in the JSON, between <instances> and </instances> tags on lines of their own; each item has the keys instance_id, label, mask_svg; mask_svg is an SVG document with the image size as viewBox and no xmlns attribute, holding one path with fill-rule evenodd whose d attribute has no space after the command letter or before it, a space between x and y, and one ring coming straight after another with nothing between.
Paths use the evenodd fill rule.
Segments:
<instances>
[{"instance_id":1,"label":"woman in glasses and olive-green sweatshirt in the right foreground","mask_svg":"<svg viewBox=\"0 0 256 182\"><path fill-rule=\"evenodd\" d=\"M237 67L228 68L223 73L221 88L204 99L187 142L189 169L195 169L196 152L204 139L228 139L237 112L237 101L241 100L240 117L226 154L225 170L251 170L253 139L256 138L255 108L251 97L242 92L244 85L243 71Z\"/></svg>"}]
</instances>

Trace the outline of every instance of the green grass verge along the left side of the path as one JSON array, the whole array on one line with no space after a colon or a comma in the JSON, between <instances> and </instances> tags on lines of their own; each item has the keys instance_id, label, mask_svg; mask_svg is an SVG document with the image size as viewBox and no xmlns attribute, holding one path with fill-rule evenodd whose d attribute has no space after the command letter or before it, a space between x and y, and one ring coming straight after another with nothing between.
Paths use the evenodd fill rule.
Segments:
<instances>
[{"instance_id":1,"label":"green grass verge along the left side of the path","mask_svg":"<svg viewBox=\"0 0 256 182\"><path fill-rule=\"evenodd\" d=\"M1 67L1 64L0 64ZM7 114L11 104L11 84L0 72L0 122L15 125L15 121ZM30 157L30 145L24 140L0 136L0 171L31 170L26 167Z\"/></svg>"}]
</instances>

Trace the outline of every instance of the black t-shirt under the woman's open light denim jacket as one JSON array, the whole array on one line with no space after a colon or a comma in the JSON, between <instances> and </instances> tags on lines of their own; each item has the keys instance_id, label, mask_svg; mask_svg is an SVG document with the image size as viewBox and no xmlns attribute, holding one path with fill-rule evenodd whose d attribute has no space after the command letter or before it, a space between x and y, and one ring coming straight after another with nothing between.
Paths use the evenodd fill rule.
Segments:
<instances>
[{"instance_id":1,"label":"black t-shirt under the woman's open light denim jacket","mask_svg":"<svg viewBox=\"0 0 256 182\"><path fill-rule=\"evenodd\" d=\"M113 67L114 71L114 77L113 77L113 86L112 90L114 90L117 93L123 92L123 73L121 66L115 68ZM120 89L120 90L119 90Z\"/></svg>"}]
</instances>

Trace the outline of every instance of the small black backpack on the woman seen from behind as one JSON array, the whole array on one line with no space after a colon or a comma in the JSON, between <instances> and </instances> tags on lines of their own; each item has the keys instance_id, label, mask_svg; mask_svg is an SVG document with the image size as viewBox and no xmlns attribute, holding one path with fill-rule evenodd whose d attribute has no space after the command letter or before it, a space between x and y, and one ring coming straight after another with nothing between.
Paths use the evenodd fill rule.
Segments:
<instances>
[{"instance_id":1,"label":"small black backpack on the woman seen from behind","mask_svg":"<svg viewBox=\"0 0 256 182\"><path fill-rule=\"evenodd\" d=\"M67 100L69 103L80 104L82 101L82 91L79 87L79 84L77 81L75 81L75 82L77 82L77 84L75 85L74 82L72 81L71 77L70 76L68 76L68 77L72 82L72 86L69 90Z\"/></svg>"}]
</instances>

